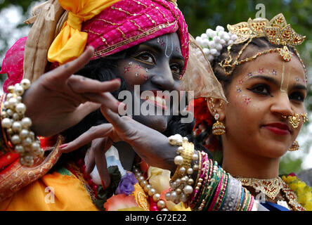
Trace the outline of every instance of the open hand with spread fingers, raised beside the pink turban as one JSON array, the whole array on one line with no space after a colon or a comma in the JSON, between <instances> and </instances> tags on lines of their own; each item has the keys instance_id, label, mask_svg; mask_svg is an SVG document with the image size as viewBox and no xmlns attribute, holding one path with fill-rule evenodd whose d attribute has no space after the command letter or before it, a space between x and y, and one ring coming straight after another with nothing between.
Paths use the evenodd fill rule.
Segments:
<instances>
[{"instance_id":1,"label":"open hand with spread fingers, raised beside the pink turban","mask_svg":"<svg viewBox=\"0 0 312 225\"><path fill-rule=\"evenodd\" d=\"M84 67L93 54L89 47L82 56L51 70L25 91L22 101L32 130L39 136L52 136L80 122L100 105L117 112L119 101L109 91L120 86L119 79L99 82L73 75Z\"/></svg>"}]
</instances>

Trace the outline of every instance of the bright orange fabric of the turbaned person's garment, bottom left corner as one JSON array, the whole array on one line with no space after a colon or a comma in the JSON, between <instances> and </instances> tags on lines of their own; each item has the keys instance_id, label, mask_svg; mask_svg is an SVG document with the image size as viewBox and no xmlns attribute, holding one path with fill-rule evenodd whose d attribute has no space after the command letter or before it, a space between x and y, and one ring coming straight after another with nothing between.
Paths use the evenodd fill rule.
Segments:
<instances>
[{"instance_id":1,"label":"bright orange fabric of the turbaned person's garment, bottom left corner","mask_svg":"<svg viewBox=\"0 0 312 225\"><path fill-rule=\"evenodd\" d=\"M75 176L53 172L44 175L41 179L22 188L11 198L1 202L0 210L93 211L98 209L93 205L89 193L79 179Z\"/></svg>"}]
</instances>

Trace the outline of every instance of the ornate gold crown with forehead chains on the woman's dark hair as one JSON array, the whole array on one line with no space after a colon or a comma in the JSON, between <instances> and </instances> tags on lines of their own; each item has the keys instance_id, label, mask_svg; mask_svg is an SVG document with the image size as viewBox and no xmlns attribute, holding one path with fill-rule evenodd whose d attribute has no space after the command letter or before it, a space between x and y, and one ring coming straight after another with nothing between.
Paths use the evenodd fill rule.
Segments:
<instances>
[{"instance_id":1,"label":"ornate gold crown with forehead chains on the woman's dark hair","mask_svg":"<svg viewBox=\"0 0 312 225\"><path fill-rule=\"evenodd\" d=\"M291 25L287 25L285 17L282 13L275 15L271 21L268 21L265 18L256 18L254 20L249 18L247 22L238 23L236 25L228 25L228 31L238 36L238 39L236 39L233 44L241 44L245 41L247 42L235 59L233 59L230 55L230 49L233 44L228 46L228 58L219 63L219 65L221 65L221 67L225 70L226 75L230 75L236 65L249 62L266 53L278 52L280 53L280 56L282 56L282 59L288 62L292 59L292 53L288 49L288 46L294 49L304 67L304 72L306 74L305 65L301 60L297 49L295 49L295 46L302 44L306 37L297 34L297 32L292 29ZM239 60L242 55L242 51L244 51L252 39L256 37L266 37L272 44L282 45L283 48L268 49L266 51L256 53L255 56Z\"/></svg>"}]
</instances>

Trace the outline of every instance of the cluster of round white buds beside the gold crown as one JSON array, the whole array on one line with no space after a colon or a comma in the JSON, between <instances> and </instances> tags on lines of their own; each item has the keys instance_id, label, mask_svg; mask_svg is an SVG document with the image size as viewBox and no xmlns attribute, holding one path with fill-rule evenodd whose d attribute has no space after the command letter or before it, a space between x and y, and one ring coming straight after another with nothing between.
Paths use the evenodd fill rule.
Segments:
<instances>
[{"instance_id":1,"label":"cluster of round white buds beside the gold crown","mask_svg":"<svg viewBox=\"0 0 312 225\"><path fill-rule=\"evenodd\" d=\"M224 46L229 46L238 39L236 34L226 32L224 27L217 26L216 30L207 29L200 37L196 37L196 42L202 47L210 63L214 57L220 56Z\"/></svg>"}]
</instances>

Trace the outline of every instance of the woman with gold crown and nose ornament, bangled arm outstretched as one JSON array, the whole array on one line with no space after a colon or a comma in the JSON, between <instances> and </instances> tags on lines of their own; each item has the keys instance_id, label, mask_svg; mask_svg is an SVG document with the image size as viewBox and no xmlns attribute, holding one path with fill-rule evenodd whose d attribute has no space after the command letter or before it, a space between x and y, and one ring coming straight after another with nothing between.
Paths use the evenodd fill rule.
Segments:
<instances>
[{"instance_id":1,"label":"woman with gold crown and nose ornament, bangled arm outstretched","mask_svg":"<svg viewBox=\"0 0 312 225\"><path fill-rule=\"evenodd\" d=\"M215 32L209 48L197 39L213 72L198 75L204 65L199 61L204 59L200 49L190 48L188 63L192 66L182 78L184 89L195 90L197 139L210 150L221 148L222 167L196 150L186 137L170 136L166 144L167 138L159 132L107 108L101 111L115 129L108 131L100 125L102 134L87 131L63 150L69 152L93 138L107 136L130 143L149 165L171 170L171 188L164 193L167 204L183 202L199 211L312 210L311 187L295 176L278 176L280 157L299 148L295 139L307 120L306 69L295 49L305 37L294 32L282 14L271 21L249 19L228 25L228 30L225 33L218 27L225 38L215 38L219 36ZM209 32L212 30L204 37L209 39ZM191 41L190 46L196 44ZM198 56L198 61L193 62L192 56ZM134 171L146 187L139 169ZM304 191L299 186L305 186Z\"/></svg>"}]
</instances>

